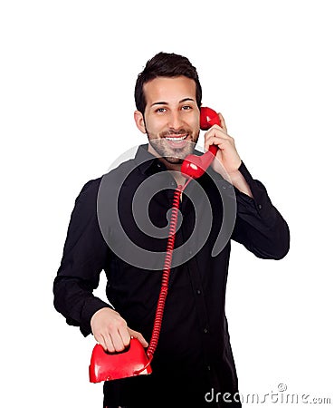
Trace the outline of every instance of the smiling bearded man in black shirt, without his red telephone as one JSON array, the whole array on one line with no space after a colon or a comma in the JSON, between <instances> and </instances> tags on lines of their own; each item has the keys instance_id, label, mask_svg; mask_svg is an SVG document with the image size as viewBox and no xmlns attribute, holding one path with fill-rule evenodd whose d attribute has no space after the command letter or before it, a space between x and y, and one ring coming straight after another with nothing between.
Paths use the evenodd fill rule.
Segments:
<instances>
[{"instance_id":1,"label":"smiling bearded man in black shirt, without his red telephone","mask_svg":"<svg viewBox=\"0 0 334 408\"><path fill-rule=\"evenodd\" d=\"M124 350L131 337L148 347L168 211L177 185L186 183L180 168L198 140L201 98L196 68L188 59L157 53L135 88L134 119L148 135L148 145L140 146L134 159L86 183L76 199L54 280L54 305L70 325L80 326L83 335L92 333L110 353ZM221 126L205 132L205 150L218 146L216 159L181 197L152 374L105 382L104 407L241 406L224 313L231 239L256 257L281 259L290 234L219 118ZM92 293L102 270L110 304Z\"/></svg>"}]
</instances>

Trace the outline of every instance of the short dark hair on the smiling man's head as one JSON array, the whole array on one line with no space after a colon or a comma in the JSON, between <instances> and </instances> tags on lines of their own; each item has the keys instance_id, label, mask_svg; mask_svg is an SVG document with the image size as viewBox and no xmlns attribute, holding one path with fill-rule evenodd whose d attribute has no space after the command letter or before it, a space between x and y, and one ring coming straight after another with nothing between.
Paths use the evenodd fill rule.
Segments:
<instances>
[{"instance_id":1,"label":"short dark hair on the smiling man's head","mask_svg":"<svg viewBox=\"0 0 334 408\"><path fill-rule=\"evenodd\" d=\"M202 87L199 83L196 67L189 60L177 53L157 53L153 58L148 60L144 70L138 74L135 87L135 102L139 112L144 114L146 108L146 98L143 91L145 83L159 77L176 77L184 75L196 83L196 102L198 107L202 102Z\"/></svg>"}]
</instances>

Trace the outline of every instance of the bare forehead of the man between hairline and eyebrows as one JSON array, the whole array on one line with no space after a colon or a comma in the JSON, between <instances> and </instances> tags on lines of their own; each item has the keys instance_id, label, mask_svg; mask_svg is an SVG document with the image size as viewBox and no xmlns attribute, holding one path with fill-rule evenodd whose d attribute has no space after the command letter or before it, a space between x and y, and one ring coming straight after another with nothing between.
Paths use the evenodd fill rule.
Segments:
<instances>
[{"instance_id":1,"label":"bare forehead of the man between hairline and eyebrows","mask_svg":"<svg viewBox=\"0 0 334 408\"><path fill-rule=\"evenodd\" d=\"M186 76L172 78L159 76L145 83L143 89L147 103L172 103L184 98L192 98L196 101L196 83Z\"/></svg>"}]
</instances>

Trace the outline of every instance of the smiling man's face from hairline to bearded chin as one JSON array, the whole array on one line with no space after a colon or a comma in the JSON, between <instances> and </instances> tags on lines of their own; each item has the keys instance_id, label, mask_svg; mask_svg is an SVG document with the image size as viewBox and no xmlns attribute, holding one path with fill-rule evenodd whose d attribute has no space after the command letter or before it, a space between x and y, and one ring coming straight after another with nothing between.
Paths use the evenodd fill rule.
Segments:
<instances>
[{"instance_id":1,"label":"smiling man's face from hairline to bearded chin","mask_svg":"<svg viewBox=\"0 0 334 408\"><path fill-rule=\"evenodd\" d=\"M178 76L145 83L144 126L148 141L171 164L180 164L194 151L199 136L196 83Z\"/></svg>"}]
</instances>

